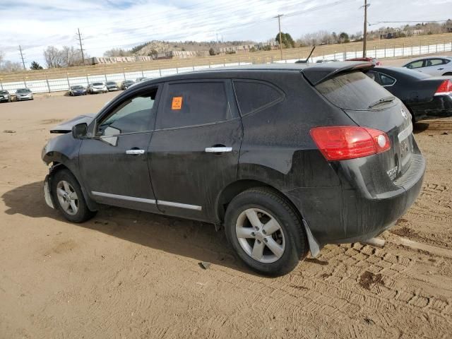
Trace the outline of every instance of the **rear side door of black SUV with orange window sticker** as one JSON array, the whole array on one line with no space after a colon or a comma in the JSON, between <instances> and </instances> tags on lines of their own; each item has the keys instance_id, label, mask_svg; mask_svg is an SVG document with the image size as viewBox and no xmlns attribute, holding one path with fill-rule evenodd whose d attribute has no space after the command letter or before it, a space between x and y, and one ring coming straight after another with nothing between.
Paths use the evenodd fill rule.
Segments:
<instances>
[{"instance_id":1,"label":"rear side door of black SUV with orange window sticker","mask_svg":"<svg viewBox=\"0 0 452 339\"><path fill-rule=\"evenodd\" d=\"M217 221L220 191L237 179L242 121L230 80L165 85L150 143L157 205L168 215Z\"/></svg>"}]
</instances>

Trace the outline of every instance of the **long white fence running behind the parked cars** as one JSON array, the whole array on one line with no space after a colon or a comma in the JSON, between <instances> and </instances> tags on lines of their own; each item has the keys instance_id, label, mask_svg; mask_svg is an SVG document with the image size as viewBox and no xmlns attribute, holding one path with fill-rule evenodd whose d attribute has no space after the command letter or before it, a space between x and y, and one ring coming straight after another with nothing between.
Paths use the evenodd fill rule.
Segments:
<instances>
[{"instance_id":1,"label":"long white fence running behind the parked cars","mask_svg":"<svg viewBox=\"0 0 452 339\"><path fill-rule=\"evenodd\" d=\"M407 46L407 47L386 47L385 49L369 49L367 50L368 57L376 57L378 59L393 58L393 57L414 57L421 54L435 54L440 52L451 52L452 42L444 44L430 44L427 46ZM335 54L322 55L319 57L312 57L311 62L316 62L318 60L339 60L343 61L345 59L361 57L362 51L350 51L350 52L340 52ZM287 59L283 61L275 61L277 63L292 63L298 59ZM116 81L117 83L124 80L135 80L136 78L146 77L146 78L160 78L162 76L169 76L177 73L186 73L191 71L199 71L202 69L216 68L222 66L241 66L250 64L249 62L235 62L229 64L210 64L206 66L189 66L189 67L179 67L173 69L157 69L153 71L135 71L135 72L124 72L124 73L114 73L105 74L100 76L78 76L78 77L66 77L59 79L46 79L37 81L17 81L13 83L1 83L0 88L2 90L8 90L10 93L16 93L18 88L30 88L33 93L50 93L69 90L69 86L73 85L83 85L87 86L89 83L93 82L104 82L104 81Z\"/></svg>"}]
</instances>

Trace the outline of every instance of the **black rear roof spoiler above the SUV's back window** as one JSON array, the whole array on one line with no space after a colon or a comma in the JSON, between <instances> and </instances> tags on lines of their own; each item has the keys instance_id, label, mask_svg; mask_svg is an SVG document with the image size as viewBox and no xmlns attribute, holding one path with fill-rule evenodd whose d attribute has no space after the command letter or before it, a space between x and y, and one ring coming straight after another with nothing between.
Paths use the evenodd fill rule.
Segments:
<instances>
[{"instance_id":1,"label":"black rear roof spoiler above the SUV's back window","mask_svg":"<svg viewBox=\"0 0 452 339\"><path fill-rule=\"evenodd\" d=\"M367 71L374 68L374 64L367 61L341 61L311 66L303 69L301 72L308 79L311 85L316 86L323 81L333 78L339 73L351 71Z\"/></svg>"}]
</instances>

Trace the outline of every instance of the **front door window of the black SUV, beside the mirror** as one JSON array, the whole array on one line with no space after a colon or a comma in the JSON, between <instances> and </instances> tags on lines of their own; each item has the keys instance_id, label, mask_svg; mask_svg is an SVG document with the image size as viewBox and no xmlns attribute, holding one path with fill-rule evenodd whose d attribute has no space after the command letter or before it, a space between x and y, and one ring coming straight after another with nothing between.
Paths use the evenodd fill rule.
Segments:
<instances>
[{"instance_id":1,"label":"front door window of the black SUV, beside the mirror","mask_svg":"<svg viewBox=\"0 0 452 339\"><path fill-rule=\"evenodd\" d=\"M97 136L148 131L156 95L157 88L122 102L99 122Z\"/></svg>"}]
</instances>

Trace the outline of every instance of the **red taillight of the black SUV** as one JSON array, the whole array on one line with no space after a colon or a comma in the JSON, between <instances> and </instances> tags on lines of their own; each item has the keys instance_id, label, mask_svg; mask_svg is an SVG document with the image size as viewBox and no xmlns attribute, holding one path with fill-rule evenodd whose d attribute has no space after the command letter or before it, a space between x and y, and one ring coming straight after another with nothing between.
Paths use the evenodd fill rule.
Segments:
<instances>
[{"instance_id":1,"label":"red taillight of the black SUV","mask_svg":"<svg viewBox=\"0 0 452 339\"><path fill-rule=\"evenodd\" d=\"M386 133L366 127L315 127L311 137L328 161L367 157L391 148Z\"/></svg>"}]
</instances>

